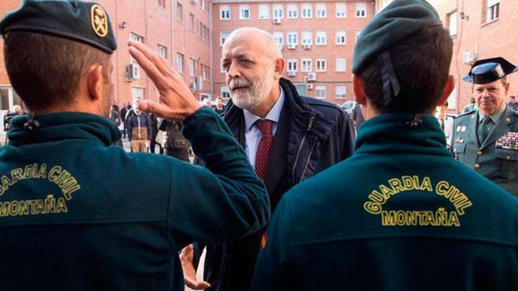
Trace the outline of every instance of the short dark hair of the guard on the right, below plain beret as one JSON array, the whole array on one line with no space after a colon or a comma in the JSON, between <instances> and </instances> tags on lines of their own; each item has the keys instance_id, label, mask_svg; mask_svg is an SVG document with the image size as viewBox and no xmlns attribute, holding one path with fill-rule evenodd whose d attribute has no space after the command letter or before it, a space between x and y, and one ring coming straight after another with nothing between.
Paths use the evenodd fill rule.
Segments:
<instances>
[{"instance_id":1,"label":"short dark hair of the guard on the right, below plain beret","mask_svg":"<svg viewBox=\"0 0 518 291\"><path fill-rule=\"evenodd\" d=\"M440 23L401 39L388 51L401 91L385 106L378 59L360 72L369 103L379 113L429 113L448 80L453 42Z\"/></svg>"}]
</instances>

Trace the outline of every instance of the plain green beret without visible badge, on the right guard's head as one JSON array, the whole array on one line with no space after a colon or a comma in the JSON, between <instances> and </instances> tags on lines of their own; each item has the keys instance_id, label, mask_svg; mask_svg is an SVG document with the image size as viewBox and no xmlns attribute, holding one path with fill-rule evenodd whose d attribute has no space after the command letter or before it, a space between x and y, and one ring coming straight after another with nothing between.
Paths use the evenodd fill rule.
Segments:
<instances>
[{"instance_id":1,"label":"plain green beret without visible badge, on the right guard's head","mask_svg":"<svg viewBox=\"0 0 518 291\"><path fill-rule=\"evenodd\" d=\"M400 39L440 22L435 9L424 0L394 0L365 26L358 36L353 56L353 73L362 71L371 59Z\"/></svg>"}]
</instances>

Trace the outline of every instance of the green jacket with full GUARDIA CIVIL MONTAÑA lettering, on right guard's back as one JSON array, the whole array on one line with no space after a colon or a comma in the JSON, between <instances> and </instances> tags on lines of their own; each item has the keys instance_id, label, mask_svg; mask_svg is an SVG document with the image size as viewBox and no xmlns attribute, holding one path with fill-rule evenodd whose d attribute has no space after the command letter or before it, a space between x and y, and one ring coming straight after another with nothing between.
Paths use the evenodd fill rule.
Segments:
<instances>
[{"instance_id":1,"label":"green jacket with full GUARDIA CIVIL MONTA\u00d1A lettering, on right guard's back","mask_svg":"<svg viewBox=\"0 0 518 291\"><path fill-rule=\"evenodd\" d=\"M252 290L518 289L518 200L411 117L365 121L349 159L283 196Z\"/></svg>"}]
</instances>

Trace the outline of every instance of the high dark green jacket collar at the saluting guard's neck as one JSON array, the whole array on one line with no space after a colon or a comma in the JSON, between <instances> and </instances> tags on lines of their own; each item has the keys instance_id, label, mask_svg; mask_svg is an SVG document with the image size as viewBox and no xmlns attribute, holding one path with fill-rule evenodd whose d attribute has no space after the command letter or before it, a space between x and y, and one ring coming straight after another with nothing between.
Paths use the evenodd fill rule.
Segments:
<instances>
[{"instance_id":1,"label":"high dark green jacket collar at the saluting guard's neck","mask_svg":"<svg viewBox=\"0 0 518 291\"><path fill-rule=\"evenodd\" d=\"M121 133L113 122L95 114L83 112L37 114L35 120L39 122L39 127L28 130L23 128L27 122L26 115L13 118L12 129L7 134L9 145L20 146L82 139L109 146L121 138Z\"/></svg>"}]
</instances>

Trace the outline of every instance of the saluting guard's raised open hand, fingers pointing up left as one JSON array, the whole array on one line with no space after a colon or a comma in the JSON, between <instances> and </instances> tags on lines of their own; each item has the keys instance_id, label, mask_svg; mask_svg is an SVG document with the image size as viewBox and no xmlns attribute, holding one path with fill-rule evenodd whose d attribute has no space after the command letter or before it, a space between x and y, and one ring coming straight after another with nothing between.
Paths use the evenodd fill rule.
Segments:
<instances>
[{"instance_id":1,"label":"saluting guard's raised open hand, fingers pointing up left","mask_svg":"<svg viewBox=\"0 0 518 291\"><path fill-rule=\"evenodd\" d=\"M130 54L146 71L160 93L160 103L143 100L138 106L140 110L155 113L164 118L183 121L202 106L182 77L173 71L156 52L139 42L130 41L128 45Z\"/></svg>"}]
</instances>

